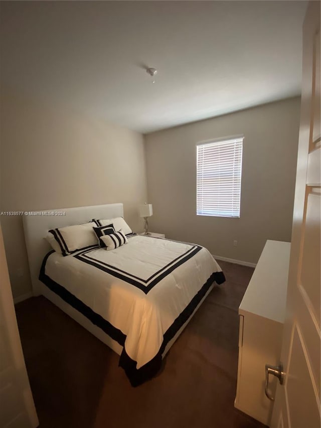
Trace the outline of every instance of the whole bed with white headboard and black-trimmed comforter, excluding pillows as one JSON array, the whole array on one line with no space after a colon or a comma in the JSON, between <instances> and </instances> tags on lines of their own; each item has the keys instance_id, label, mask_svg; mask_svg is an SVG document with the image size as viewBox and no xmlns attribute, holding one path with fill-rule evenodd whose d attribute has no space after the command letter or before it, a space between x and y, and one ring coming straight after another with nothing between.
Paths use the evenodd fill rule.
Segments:
<instances>
[{"instance_id":1,"label":"whole bed with white headboard and black-trimmed comforter, excluding pillows","mask_svg":"<svg viewBox=\"0 0 321 428\"><path fill-rule=\"evenodd\" d=\"M46 213L64 212L64 215ZM132 386L154 376L174 341L224 274L199 245L128 234L111 251L64 256L44 239L51 228L123 217L122 204L24 216L35 295L44 295L120 355Z\"/></svg>"}]
</instances>

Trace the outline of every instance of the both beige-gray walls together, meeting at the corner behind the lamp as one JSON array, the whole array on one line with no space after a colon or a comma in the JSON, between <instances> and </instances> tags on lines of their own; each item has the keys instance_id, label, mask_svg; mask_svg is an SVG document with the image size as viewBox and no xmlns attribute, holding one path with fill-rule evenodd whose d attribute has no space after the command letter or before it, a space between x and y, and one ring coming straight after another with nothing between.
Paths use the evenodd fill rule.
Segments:
<instances>
[{"instance_id":1,"label":"both beige-gray walls together, meeting at the corner behind the lamp","mask_svg":"<svg viewBox=\"0 0 321 428\"><path fill-rule=\"evenodd\" d=\"M256 262L266 239L290 240L299 107L291 98L154 132L144 145L137 132L3 90L0 211L123 202L125 219L141 231L148 184L150 230ZM196 216L196 143L240 133L241 217ZM0 219L20 298L31 291L22 218Z\"/></svg>"}]
</instances>

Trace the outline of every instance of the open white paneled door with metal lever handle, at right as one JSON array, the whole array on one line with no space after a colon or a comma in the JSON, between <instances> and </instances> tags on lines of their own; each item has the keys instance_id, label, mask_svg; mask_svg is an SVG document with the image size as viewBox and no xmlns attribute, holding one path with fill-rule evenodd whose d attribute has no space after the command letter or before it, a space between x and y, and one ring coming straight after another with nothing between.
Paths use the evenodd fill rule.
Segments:
<instances>
[{"instance_id":1,"label":"open white paneled door with metal lever handle, at right","mask_svg":"<svg viewBox=\"0 0 321 428\"><path fill-rule=\"evenodd\" d=\"M320 3L303 24L301 119L286 320L271 427L320 427Z\"/></svg>"}]
</instances>

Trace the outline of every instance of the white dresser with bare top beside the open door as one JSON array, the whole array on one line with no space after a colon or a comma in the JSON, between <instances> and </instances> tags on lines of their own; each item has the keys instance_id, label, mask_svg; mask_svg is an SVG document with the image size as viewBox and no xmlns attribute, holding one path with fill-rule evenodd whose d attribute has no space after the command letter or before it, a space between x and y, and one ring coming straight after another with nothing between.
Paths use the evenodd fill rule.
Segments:
<instances>
[{"instance_id":1,"label":"white dresser with bare top beside the open door","mask_svg":"<svg viewBox=\"0 0 321 428\"><path fill-rule=\"evenodd\" d=\"M273 402L264 392L265 364L277 365L285 320L290 243L266 241L239 307L239 360L234 405L269 425ZM275 395L277 379L270 376Z\"/></svg>"}]
</instances>

